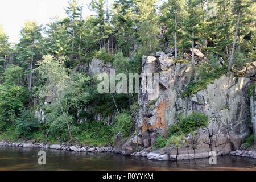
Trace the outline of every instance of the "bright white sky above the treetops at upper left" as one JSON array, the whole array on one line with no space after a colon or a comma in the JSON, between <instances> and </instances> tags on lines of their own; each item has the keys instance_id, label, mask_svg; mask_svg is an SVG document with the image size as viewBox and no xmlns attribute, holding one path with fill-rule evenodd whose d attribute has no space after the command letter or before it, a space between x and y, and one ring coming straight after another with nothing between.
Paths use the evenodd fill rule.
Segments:
<instances>
[{"instance_id":1,"label":"bright white sky above the treetops at upper left","mask_svg":"<svg viewBox=\"0 0 256 182\"><path fill-rule=\"evenodd\" d=\"M84 4L84 18L92 12L88 9L90 0L79 0ZM0 24L9 36L9 42L19 42L19 31L26 20L46 24L54 16L65 17L64 7L68 0L0 0Z\"/></svg>"}]
</instances>

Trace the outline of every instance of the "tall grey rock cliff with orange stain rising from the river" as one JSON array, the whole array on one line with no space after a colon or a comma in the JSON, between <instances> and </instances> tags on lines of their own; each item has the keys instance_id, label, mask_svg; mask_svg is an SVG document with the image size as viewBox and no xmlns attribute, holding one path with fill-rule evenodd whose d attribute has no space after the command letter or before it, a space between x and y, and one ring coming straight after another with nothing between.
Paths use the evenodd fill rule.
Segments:
<instances>
[{"instance_id":1,"label":"tall grey rock cliff with orange stain rising from the river","mask_svg":"<svg viewBox=\"0 0 256 182\"><path fill-rule=\"evenodd\" d=\"M137 134L122 140L119 134L114 151L125 155L146 156L154 146L158 134L166 135L168 126L176 123L178 114L199 111L208 115L208 127L187 135L180 147L166 147L160 154L169 158L191 159L208 157L209 151L217 155L237 150L251 134L255 133L256 96L247 90L255 80L256 63L251 63L237 76L233 72L222 75L189 97L182 97L192 78L192 65L175 61L168 55L143 56L142 73L159 73L158 99L148 100L148 94L139 94L135 115ZM140 150L140 152L136 152ZM152 158L152 157L151 157Z\"/></svg>"}]
</instances>

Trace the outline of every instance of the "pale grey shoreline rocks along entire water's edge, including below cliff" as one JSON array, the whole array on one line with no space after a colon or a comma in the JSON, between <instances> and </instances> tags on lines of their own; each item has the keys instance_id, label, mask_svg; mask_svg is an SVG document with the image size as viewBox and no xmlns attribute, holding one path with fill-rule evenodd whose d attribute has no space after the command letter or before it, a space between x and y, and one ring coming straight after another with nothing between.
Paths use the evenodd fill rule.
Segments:
<instances>
[{"instance_id":1,"label":"pale grey shoreline rocks along entire water's edge, including below cliff","mask_svg":"<svg viewBox=\"0 0 256 182\"><path fill-rule=\"evenodd\" d=\"M114 153L114 147L91 147L91 146L77 146L77 145L65 145L65 144L43 144L43 143L32 143L32 142L0 142L0 146L9 146L9 147L24 147L24 148L46 148L53 150L63 150L63 151L71 151L71 152L94 152L94 153ZM119 154L122 155L122 154ZM231 151L229 154L231 156L240 156L243 158L251 158L256 159L256 151L250 150L236 150ZM128 156L140 156L147 158L148 160L158 160L158 161L167 161L167 160L190 160L190 159L201 159L201 158L209 158L208 153L197 153L195 156L190 156L190 158L186 158L187 155L178 155L172 156L168 154L159 154L157 152L134 152Z\"/></svg>"}]
</instances>

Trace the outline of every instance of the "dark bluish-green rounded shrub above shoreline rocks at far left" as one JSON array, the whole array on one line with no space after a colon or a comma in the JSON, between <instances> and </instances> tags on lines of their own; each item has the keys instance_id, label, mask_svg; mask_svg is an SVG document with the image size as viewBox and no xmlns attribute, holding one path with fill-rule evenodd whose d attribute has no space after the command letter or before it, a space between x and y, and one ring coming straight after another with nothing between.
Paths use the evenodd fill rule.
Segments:
<instances>
[{"instance_id":1,"label":"dark bluish-green rounded shrub above shoreline rocks at far left","mask_svg":"<svg viewBox=\"0 0 256 182\"><path fill-rule=\"evenodd\" d=\"M38 119L34 117L31 111L24 111L16 120L16 127L20 137L32 138L32 134L39 126Z\"/></svg>"}]
</instances>

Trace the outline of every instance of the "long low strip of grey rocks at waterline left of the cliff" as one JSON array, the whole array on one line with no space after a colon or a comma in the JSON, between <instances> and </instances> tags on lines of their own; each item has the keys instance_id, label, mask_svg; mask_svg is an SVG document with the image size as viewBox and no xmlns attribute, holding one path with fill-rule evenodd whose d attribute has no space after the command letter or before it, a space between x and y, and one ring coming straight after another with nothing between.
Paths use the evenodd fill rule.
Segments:
<instances>
[{"instance_id":1,"label":"long low strip of grey rocks at waterline left of the cliff","mask_svg":"<svg viewBox=\"0 0 256 182\"><path fill-rule=\"evenodd\" d=\"M73 152L112 152L113 150L113 147L71 146L64 143L49 145L44 143L0 142L0 146L50 148L55 150L65 150Z\"/></svg>"}]
</instances>

